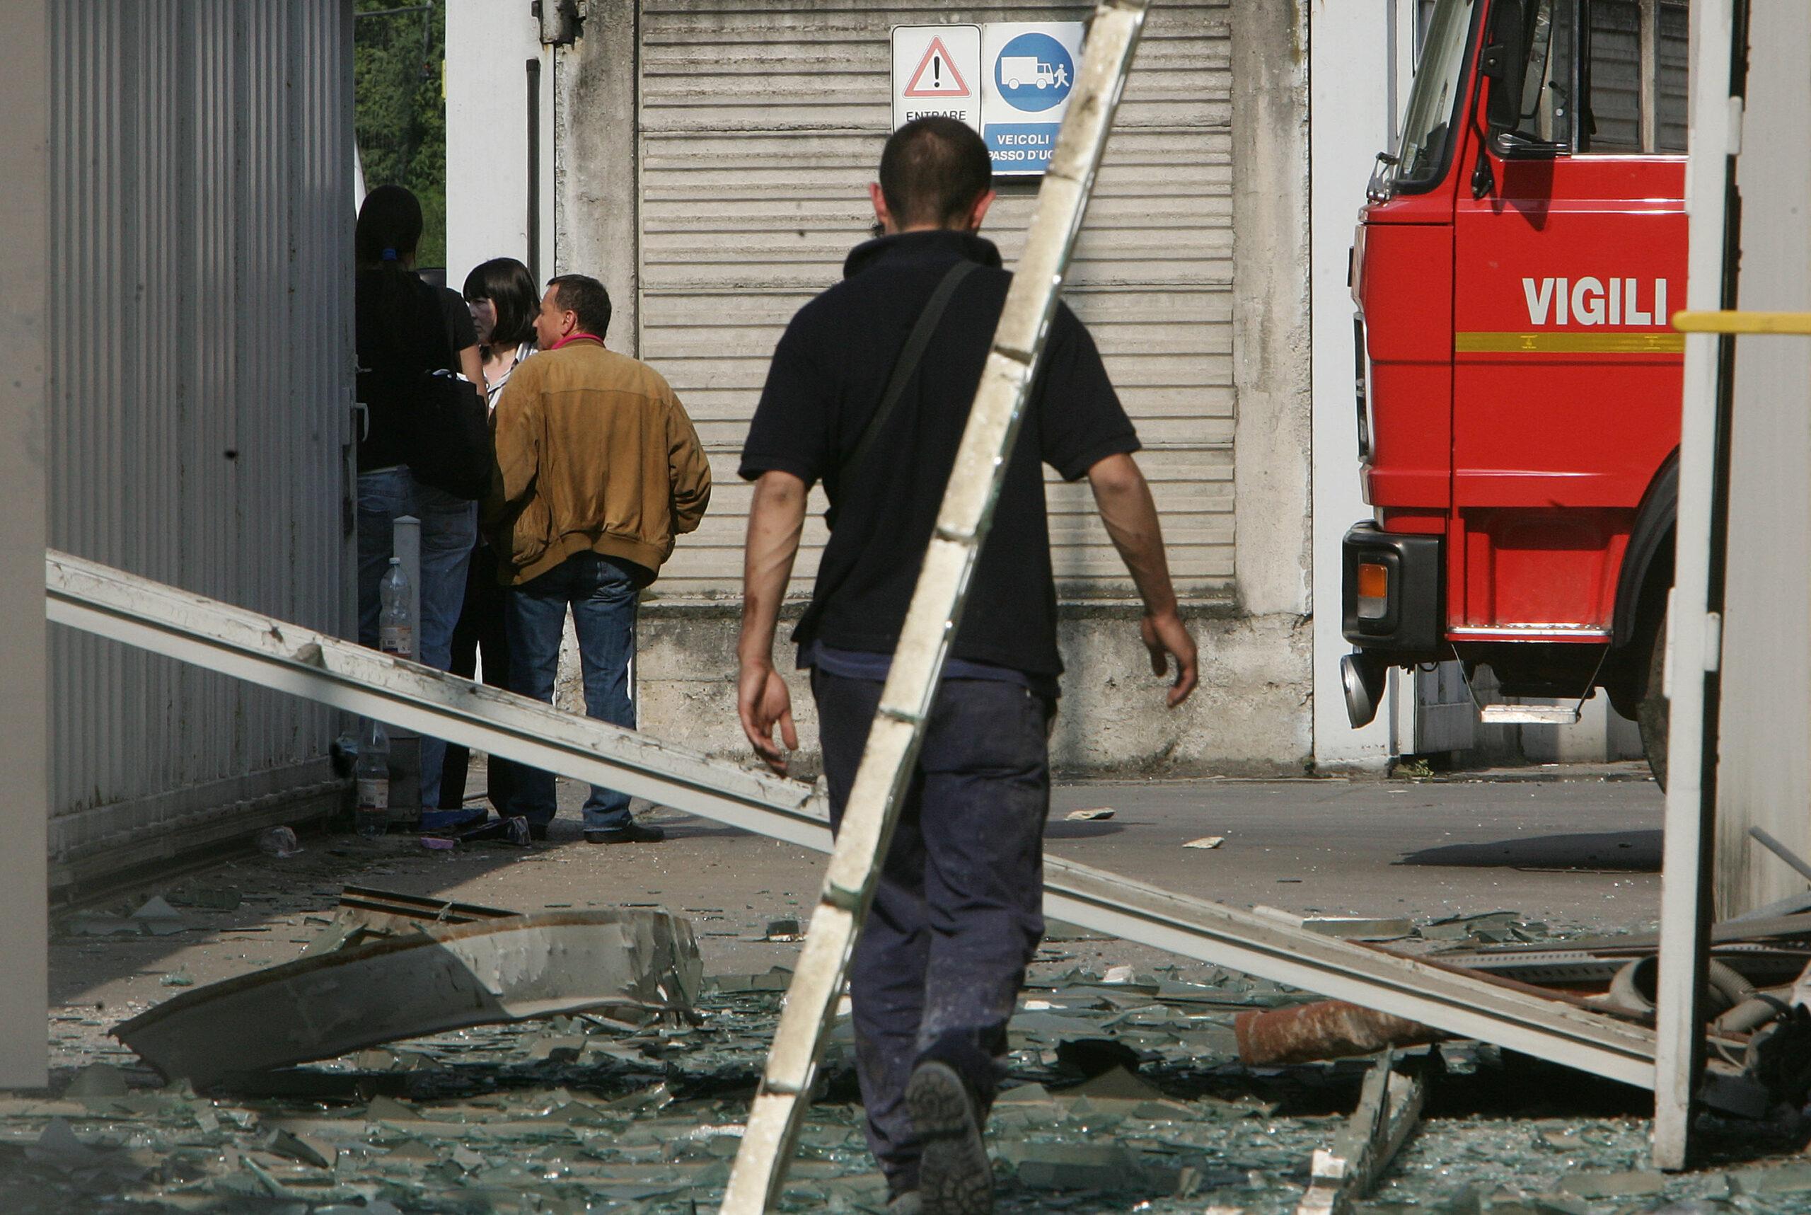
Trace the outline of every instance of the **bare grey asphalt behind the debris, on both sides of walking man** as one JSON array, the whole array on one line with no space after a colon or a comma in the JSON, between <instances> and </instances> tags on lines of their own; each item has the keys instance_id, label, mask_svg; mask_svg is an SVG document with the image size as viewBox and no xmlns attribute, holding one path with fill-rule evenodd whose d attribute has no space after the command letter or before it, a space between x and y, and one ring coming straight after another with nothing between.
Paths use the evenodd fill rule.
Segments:
<instances>
[{"instance_id":1,"label":"bare grey asphalt behind the debris, on both sides of walking man","mask_svg":"<svg viewBox=\"0 0 1811 1215\"><path fill-rule=\"evenodd\" d=\"M1554 925L1639 929L1659 911L1662 799L1630 775L1065 784L1052 795L1047 847L1235 905L1411 918L1519 911ZM645 811L666 828L663 844L590 846L580 837L581 797L561 780L552 838L532 849L431 853L406 835L304 835L297 856L252 853L116 893L107 909L120 913L194 889L232 889L243 902L234 911L185 907L185 929L168 936L76 936L60 918L53 1005L127 1016L168 996L167 976L206 983L286 961L331 916L344 884L513 911L659 904L692 916L708 974L761 972L797 952L766 942L766 929L810 914L822 856L672 809ZM1112 818L1067 818L1096 808L1112 808ZM1204 837L1222 844L1183 847ZM1049 958L1076 965L1174 961L1061 925L1050 947Z\"/></svg>"}]
</instances>

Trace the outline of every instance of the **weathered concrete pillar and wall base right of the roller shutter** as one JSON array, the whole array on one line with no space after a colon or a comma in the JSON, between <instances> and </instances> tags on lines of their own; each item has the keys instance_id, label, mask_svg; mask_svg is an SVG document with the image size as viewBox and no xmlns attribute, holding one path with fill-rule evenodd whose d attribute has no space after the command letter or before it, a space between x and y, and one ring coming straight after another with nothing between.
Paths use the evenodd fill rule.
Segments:
<instances>
[{"instance_id":1,"label":"weathered concrete pillar and wall base right of the roller shutter","mask_svg":"<svg viewBox=\"0 0 1811 1215\"><path fill-rule=\"evenodd\" d=\"M1237 612L1197 617L1203 688L1168 728L1119 694L1125 675L1096 674L1107 639L1070 625L1094 641L1070 695L1112 724L1059 737L1063 766L1300 771L1313 757L1308 38L1298 0L1233 7Z\"/></svg>"}]
</instances>

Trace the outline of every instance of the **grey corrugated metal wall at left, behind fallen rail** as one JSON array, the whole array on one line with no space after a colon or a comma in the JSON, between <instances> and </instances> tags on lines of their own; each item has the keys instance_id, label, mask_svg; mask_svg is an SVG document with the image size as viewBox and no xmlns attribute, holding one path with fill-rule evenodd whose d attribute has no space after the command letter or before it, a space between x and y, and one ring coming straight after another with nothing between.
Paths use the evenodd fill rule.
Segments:
<instances>
[{"instance_id":1,"label":"grey corrugated metal wall at left, behind fallen rail","mask_svg":"<svg viewBox=\"0 0 1811 1215\"><path fill-rule=\"evenodd\" d=\"M344 634L351 4L62 0L51 45L49 543ZM51 856L319 795L331 730L53 630Z\"/></svg>"}]
</instances>

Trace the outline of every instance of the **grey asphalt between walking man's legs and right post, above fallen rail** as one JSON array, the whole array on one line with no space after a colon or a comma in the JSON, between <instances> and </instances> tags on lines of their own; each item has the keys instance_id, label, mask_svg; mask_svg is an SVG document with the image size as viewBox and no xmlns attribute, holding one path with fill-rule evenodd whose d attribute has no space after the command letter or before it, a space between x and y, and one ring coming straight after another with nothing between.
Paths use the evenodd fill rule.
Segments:
<instances>
[{"instance_id":1,"label":"grey asphalt between walking man's legs and right post, above fallen rail","mask_svg":"<svg viewBox=\"0 0 1811 1215\"><path fill-rule=\"evenodd\" d=\"M1107 822L1065 813L1112 806ZM1237 905L1362 916L1516 909L1592 927L1659 914L1648 780L1164 780L1056 791L1052 855ZM1212 851L1184 849L1219 835Z\"/></svg>"}]
</instances>

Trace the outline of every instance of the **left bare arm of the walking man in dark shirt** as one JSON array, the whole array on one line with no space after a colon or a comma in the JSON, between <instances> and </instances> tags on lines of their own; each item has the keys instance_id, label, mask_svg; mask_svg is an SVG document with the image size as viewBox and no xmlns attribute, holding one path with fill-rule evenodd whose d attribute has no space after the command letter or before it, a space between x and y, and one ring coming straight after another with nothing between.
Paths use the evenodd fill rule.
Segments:
<instances>
[{"instance_id":1,"label":"left bare arm of the walking man in dark shirt","mask_svg":"<svg viewBox=\"0 0 1811 1215\"><path fill-rule=\"evenodd\" d=\"M791 579L799 536L804 531L806 483L791 473L762 473L755 482L755 502L748 511L748 550L743 556L743 636L735 646L741 665L735 708L743 733L775 771L786 771L786 755L773 742L781 728L786 750L799 748L799 728L791 719L791 694L773 670L773 632L781 619L781 601Z\"/></svg>"}]
</instances>

